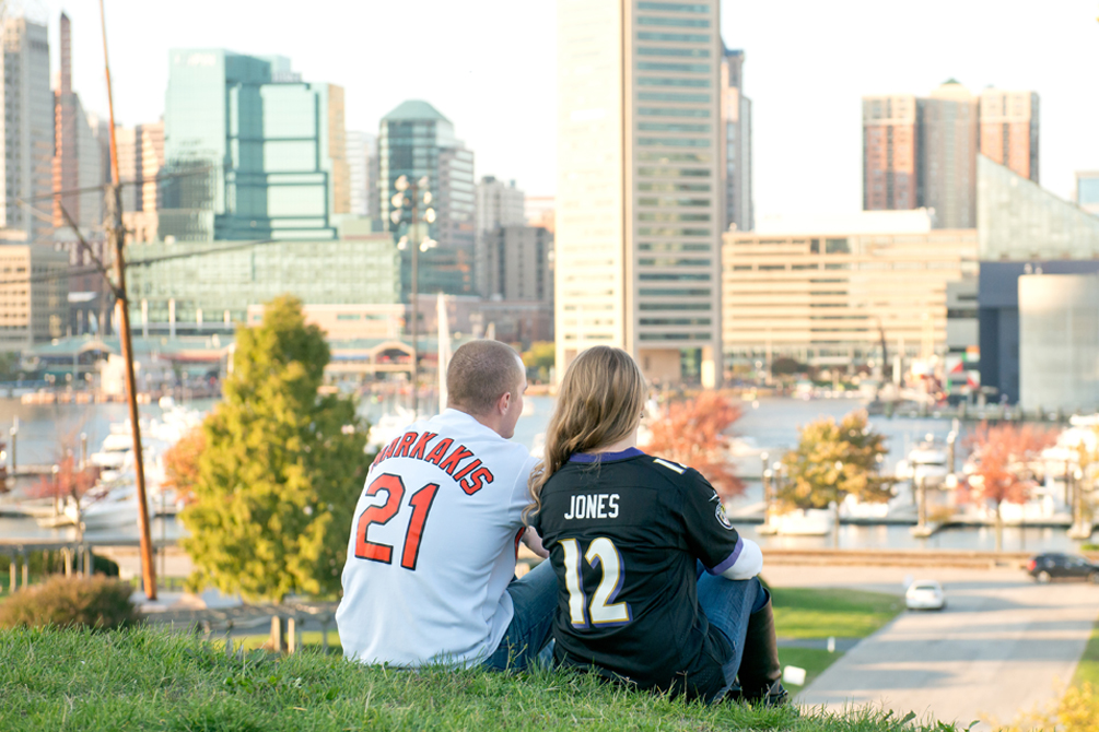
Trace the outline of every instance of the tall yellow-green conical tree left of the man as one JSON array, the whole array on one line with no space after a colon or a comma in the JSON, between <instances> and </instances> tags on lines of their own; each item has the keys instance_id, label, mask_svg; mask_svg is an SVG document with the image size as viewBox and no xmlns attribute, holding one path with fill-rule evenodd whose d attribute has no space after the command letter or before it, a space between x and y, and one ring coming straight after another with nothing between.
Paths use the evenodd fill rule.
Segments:
<instances>
[{"instance_id":1,"label":"tall yellow-green conical tree left of the man","mask_svg":"<svg viewBox=\"0 0 1099 732\"><path fill-rule=\"evenodd\" d=\"M224 399L202 426L206 450L180 518L189 585L247 600L340 589L352 514L369 468L351 399L318 393L330 351L301 302L268 303L240 328Z\"/></svg>"}]
</instances>

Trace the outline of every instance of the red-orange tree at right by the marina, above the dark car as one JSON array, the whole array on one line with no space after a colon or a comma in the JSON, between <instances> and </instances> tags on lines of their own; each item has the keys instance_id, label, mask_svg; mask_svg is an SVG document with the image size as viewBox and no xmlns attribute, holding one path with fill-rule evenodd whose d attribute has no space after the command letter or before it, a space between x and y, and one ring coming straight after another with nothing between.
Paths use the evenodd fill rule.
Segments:
<instances>
[{"instance_id":1,"label":"red-orange tree at right by the marina, above the dark car","mask_svg":"<svg viewBox=\"0 0 1099 732\"><path fill-rule=\"evenodd\" d=\"M1037 484L1031 463L1042 450L1050 447L1056 436L1034 425L1002 424L980 426L966 438L973 451L976 469L969 477L972 495L996 507L996 551L1003 549L1003 518L1000 505L1004 500L1025 503Z\"/></svg>"}]
</instances>

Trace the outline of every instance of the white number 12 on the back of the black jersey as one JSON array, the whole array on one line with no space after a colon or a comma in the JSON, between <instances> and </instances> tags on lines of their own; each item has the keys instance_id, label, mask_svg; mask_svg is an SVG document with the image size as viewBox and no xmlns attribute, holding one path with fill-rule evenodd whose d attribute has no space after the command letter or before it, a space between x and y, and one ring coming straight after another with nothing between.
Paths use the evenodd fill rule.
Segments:
<instances>
[{"instance_id":1,"label":"white number 12 on the back of the black jersey","mask_svg":"<svg viewBox=\"0 0 1099 732\"><path fill-rule=\"evenodd\" d=\"M560 548L565 552L565 587L568 590L568 619L574 628L608 628L624 626L633 618L629 603L615 603L614 597L622 589L625 570L622 555L614 542L607 537L593 539L588 544L584 559L592 568L602 570L599 585L588 603L584 594L584 573L580 567L580 547L576 539L564 539ZM590 624L589 624L590 618Z\"/></svg>"}]
</instances>

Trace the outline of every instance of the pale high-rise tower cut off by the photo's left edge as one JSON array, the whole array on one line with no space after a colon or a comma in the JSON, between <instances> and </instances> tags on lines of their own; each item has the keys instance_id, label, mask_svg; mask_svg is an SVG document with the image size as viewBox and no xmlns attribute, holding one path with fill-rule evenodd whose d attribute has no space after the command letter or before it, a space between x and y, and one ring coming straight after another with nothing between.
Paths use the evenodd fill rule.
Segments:
<instances>
[{"instance_id":1,"label":"pale high-rise tower cut off by the photo's left edge","mask_svg":"<svg viewBox=\"0 0 1099 732\"><path fill-rule=\"evenodd\" d=\"M26 241L52 232L48 221L16 202L48 211L53 192L54 95L46 26L26 18L5 19L0 66L4 110L0 226L3 238Z\"/></svg>"}]
</instances>

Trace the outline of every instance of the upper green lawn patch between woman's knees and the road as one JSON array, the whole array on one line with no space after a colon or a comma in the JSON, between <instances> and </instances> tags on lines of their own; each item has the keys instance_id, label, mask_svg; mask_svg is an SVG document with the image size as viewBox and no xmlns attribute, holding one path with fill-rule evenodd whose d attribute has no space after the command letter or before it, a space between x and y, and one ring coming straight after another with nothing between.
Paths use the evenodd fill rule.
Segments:
<instances>
[{"instance_id":1,"label":"upper green lawn patch between woman's knees and the road","mask_svg":"<svg viewBox=\"0 0 1099 732\"><path fill-rule=\"evenodd\" d=\"M780 638L866 638L904 609L903 598L852 589L771 587Z\"/></svg>"}]
</instances>

